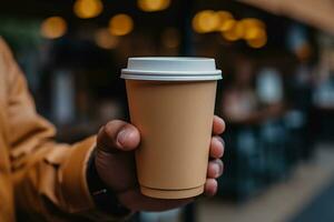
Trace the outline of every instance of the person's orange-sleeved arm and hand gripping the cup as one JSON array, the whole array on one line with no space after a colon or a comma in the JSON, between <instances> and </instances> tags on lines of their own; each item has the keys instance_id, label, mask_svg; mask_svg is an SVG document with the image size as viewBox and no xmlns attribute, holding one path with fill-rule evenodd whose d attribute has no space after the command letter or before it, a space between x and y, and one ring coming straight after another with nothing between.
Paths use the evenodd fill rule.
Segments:
<instances>
[{"instance_id":1,"label":"person's orange-sleeved arm and hand gripping the cup","mask_svg":"<svg viewBox=\"0 0 334 222\"><path fill-rule=\"evenodd\" d=\"M119 221L137 211L183 206L194 198L160 200L138 189L134 151L139 131L112 120L73 145L53 140L38 115L27 82L0 38L0 221ZM205 194L223 173L224 121L214 117Z\"/></svg>"}]
</instances>

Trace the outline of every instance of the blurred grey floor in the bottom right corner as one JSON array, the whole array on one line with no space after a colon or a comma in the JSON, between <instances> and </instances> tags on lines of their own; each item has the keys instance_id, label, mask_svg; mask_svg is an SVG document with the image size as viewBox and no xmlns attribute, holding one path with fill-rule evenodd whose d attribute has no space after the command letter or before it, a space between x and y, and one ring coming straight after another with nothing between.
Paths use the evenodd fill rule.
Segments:
<instances>
[{"instance_id":1,"label":"blurred grey floor in the bottom right corner","mask_svg":"<svg viewBox=\"0 0 334 222\"><path fill-rule=\"evenodd\" d=\"M334 144L317 144L286 181L243 204L199 201L198 222L334 222Z\"/></svg>"}]
</instances>

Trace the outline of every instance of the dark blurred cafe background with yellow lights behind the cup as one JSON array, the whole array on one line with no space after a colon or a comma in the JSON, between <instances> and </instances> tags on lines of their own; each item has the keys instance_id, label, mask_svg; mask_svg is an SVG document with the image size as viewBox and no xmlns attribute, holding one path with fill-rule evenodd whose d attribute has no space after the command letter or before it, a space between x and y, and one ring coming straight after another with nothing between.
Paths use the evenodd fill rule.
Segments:
<instances>
[{"instance_id":1,"label":"dark blurred cafe background with yellow lights behind the cup","mask_svg":"<svg viewBox=\"0 0 334 222\"><path fill-rule=\"evenodd\" d=\"M62 142L128 120L127 58L216 59L218 194L131 220L332 222L333 14L333 0L1 0L0 36Z\"/></svg>"}]
</instances>

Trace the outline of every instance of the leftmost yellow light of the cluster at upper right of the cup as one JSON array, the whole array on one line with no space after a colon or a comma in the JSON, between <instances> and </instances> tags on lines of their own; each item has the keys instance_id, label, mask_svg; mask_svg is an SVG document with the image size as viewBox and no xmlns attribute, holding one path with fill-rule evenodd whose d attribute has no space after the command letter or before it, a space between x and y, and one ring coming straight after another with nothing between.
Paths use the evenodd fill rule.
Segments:
<instances>
[{"instance_id":1,"label":"leftmost yellow light of the cluster at upper right of the cup","mask_svg":"<svg viewBox=\"0 0 334 222\"><path fill-rule=\"evenodd\" d=\"M198 33L212 32L219 26L219 16L213 10L199 11L193 18L193 28Z\"/></svg>"}]
</instances>

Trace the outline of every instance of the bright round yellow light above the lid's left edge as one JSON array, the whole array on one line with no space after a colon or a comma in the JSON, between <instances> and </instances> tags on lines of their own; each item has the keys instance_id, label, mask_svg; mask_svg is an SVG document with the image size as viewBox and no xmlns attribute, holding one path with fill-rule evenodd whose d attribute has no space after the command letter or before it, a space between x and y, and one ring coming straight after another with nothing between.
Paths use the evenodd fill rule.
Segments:
<instances>
[{"instance_id":1,"label":"bright round yellow light above the lid's left edge","mask_svg":"<svg viewBox=\"0 0 334 222\"><path fill-rule=\"evenodd\" d=\"M114 36L125 36L132 31L134 21L128 14L116 14L109 21L109 32Z\"/></svg>"}]
</instances>

